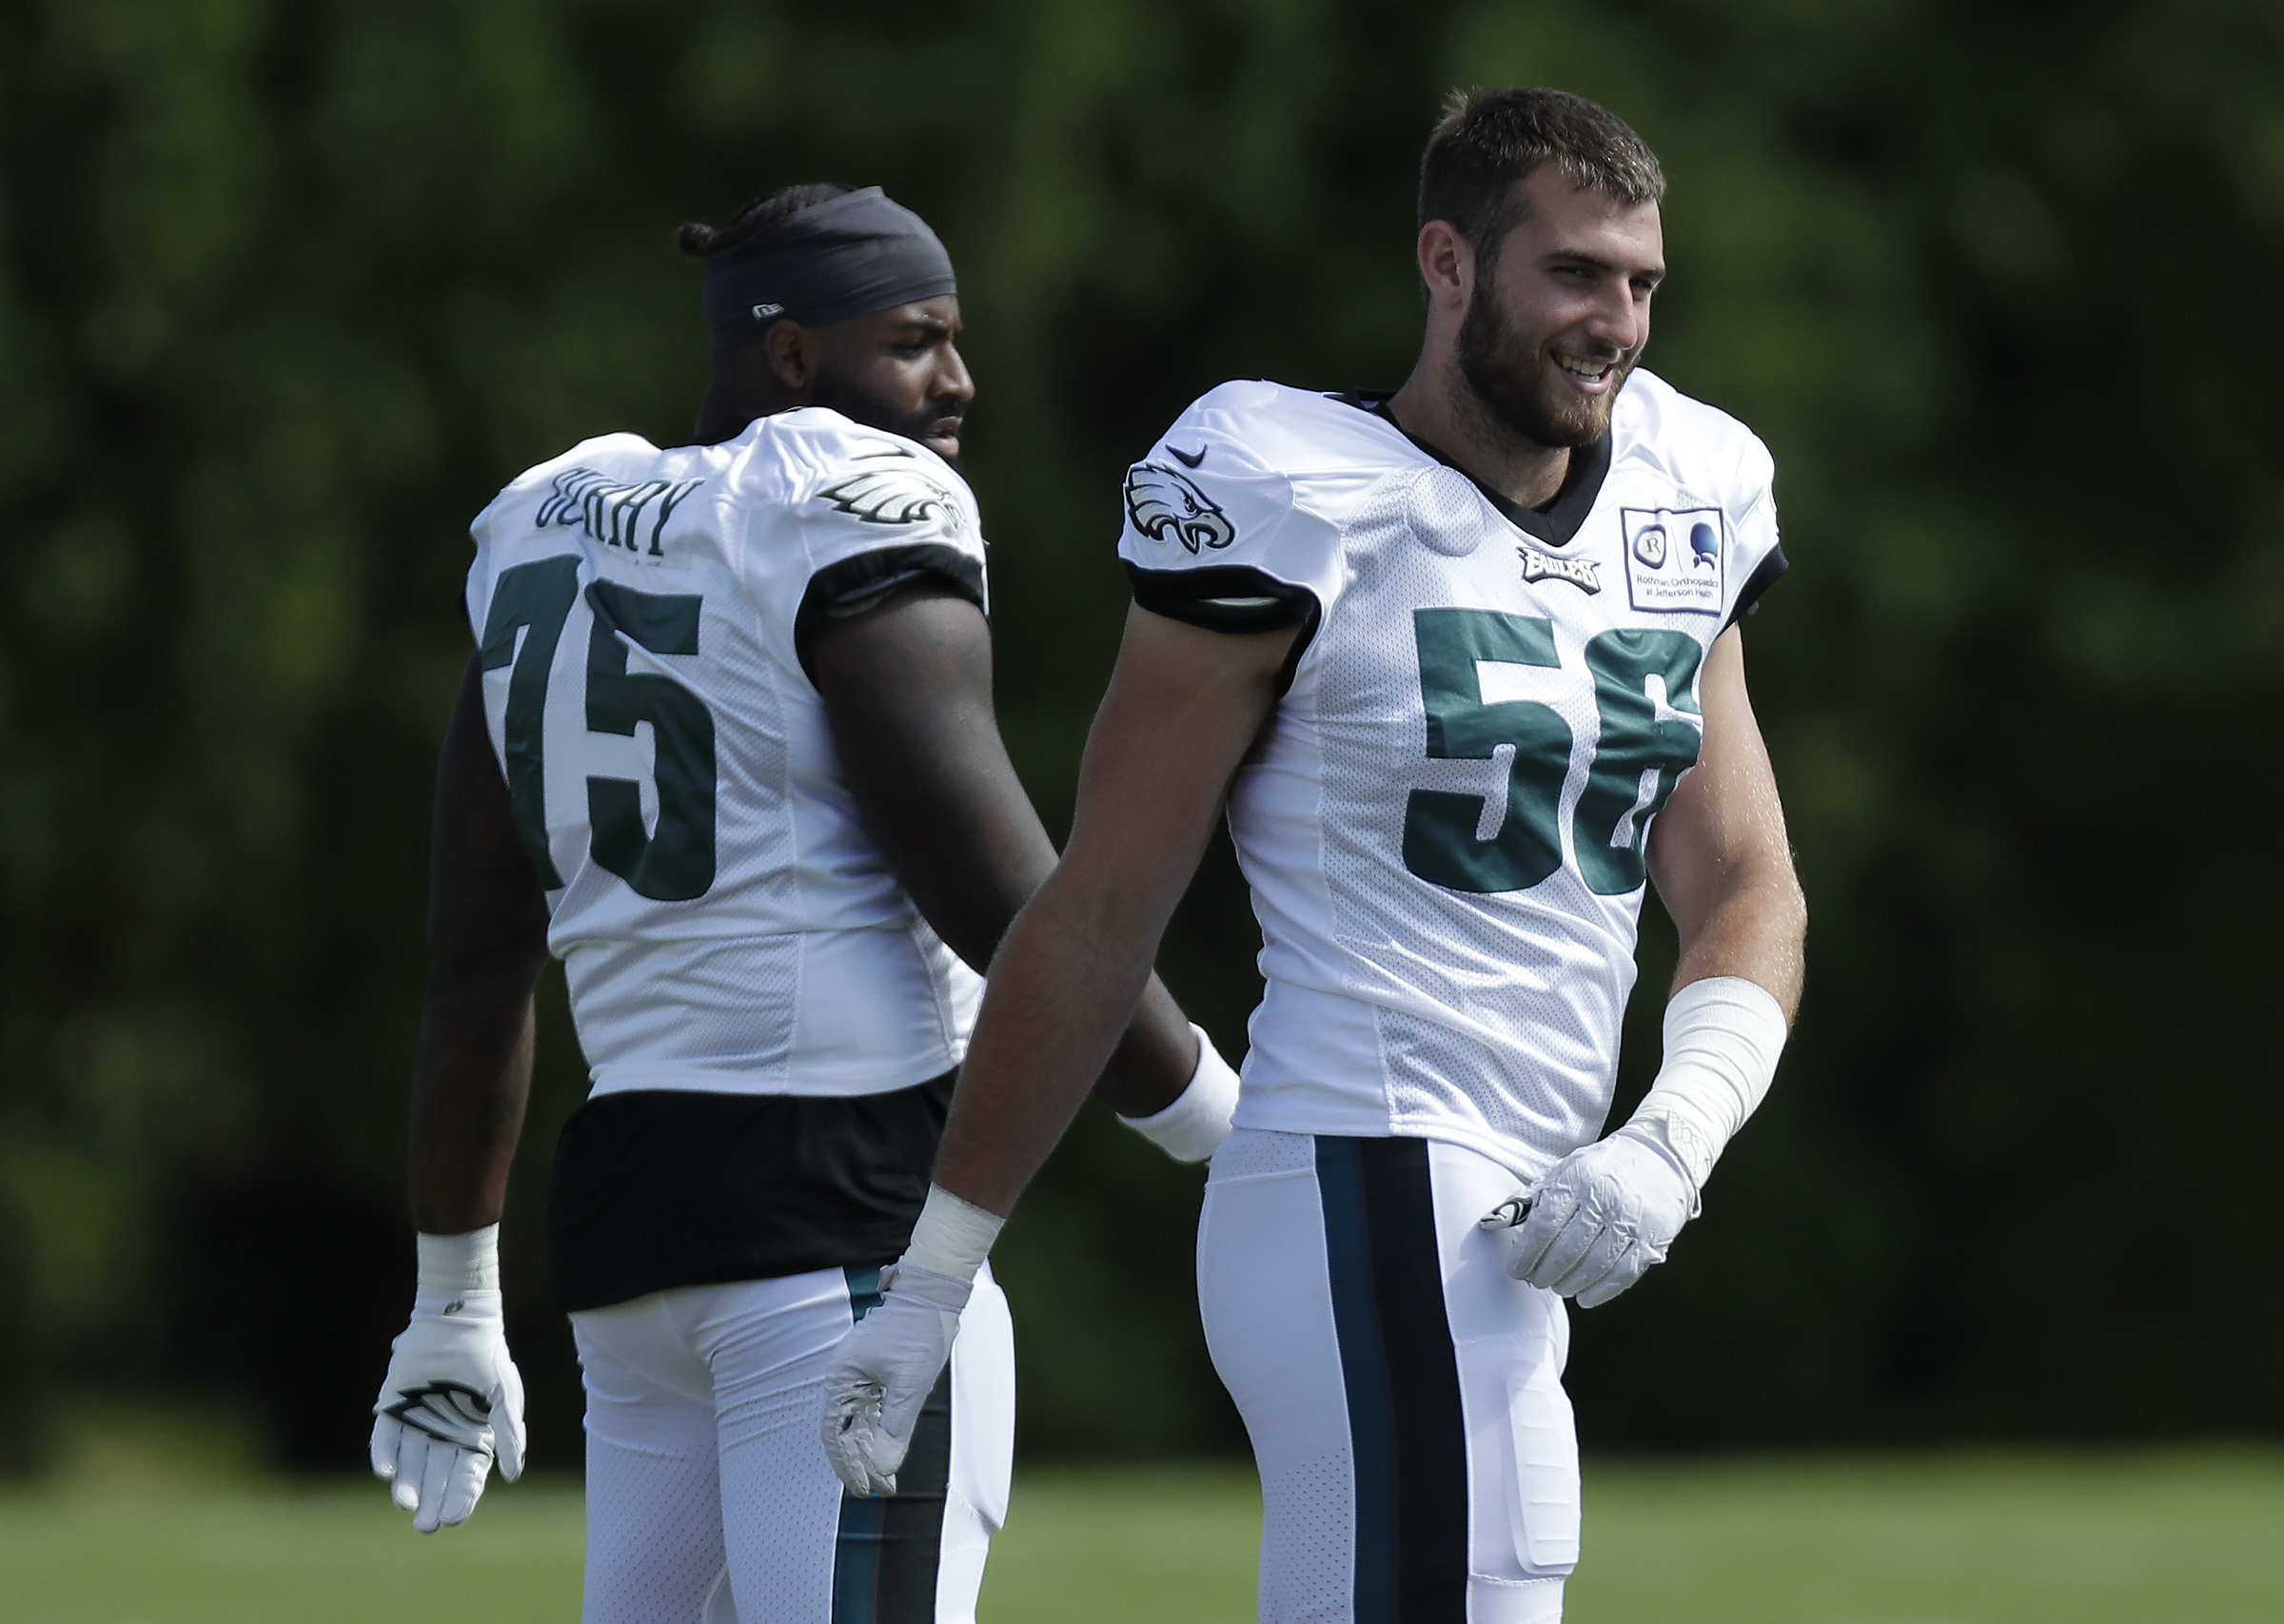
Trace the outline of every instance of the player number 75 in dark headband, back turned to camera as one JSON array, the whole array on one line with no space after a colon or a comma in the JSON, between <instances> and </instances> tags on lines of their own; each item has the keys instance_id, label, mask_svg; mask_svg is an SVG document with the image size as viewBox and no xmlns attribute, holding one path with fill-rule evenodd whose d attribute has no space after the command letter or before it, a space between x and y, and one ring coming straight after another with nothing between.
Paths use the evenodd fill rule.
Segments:
<instances>
[{"instance_id":1,"label":"player number 75 in dark headband, back turned to camera","mask_svg":"<svg viewBox=\"0 0 2284 1624\"><path fill-rule=\"evenodd\" d=\"M713 331L699 443L585 441L475 521L420 1279L372 1469L423 1530L468 1517L493 1460L521 1469L496 1236L553 952L594 1078L550 1206L587 1622L971 1619L1012 1446L989 1277L900 1494L845 1498L813 1441L825 1359L927 1190L978 971L1053 866L991 713L952 265L877 187L793 187L683 247ZM1236 1076L1151 984L1101 1094L1201 1160Z\"/></svg>"}]
</instances>

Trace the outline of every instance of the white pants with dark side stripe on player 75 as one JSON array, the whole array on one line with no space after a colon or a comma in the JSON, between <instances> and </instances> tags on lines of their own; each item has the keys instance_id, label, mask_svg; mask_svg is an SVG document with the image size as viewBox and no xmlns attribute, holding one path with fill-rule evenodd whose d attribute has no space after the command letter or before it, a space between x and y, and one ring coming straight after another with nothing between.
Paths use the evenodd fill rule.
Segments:
<instances>
[{"instance_id":1,"label":"white pants with dark side stripe on player 75","mask_svg":"<svg viewBox=\"0 0 2284 1624\"><path fill-rule=\"evenodd\" d=\"M886 1501L825 1462L825 1361L879 1270L683 1286L571 1316L587 1380L585 1624L973 1624L1007 1517L1014 1327L989 1268Z\"/></svg>"}]
</instances>

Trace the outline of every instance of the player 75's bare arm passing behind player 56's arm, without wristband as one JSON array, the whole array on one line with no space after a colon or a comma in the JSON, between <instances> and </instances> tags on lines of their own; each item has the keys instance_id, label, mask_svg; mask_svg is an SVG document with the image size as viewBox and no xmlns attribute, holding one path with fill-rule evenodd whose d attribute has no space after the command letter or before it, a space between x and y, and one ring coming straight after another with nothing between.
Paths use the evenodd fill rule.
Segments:
<instances>
[{"instance_id":1,"label":"player 75's bare arm passing behind player 56's arm, without wristband","mask_svg":"<svg viewBox=\"0 0 2284 1624\"><path fill-rule=\"evenodd\" d=\"M811 667L866 831L946 946L987 971L1055 847L1000 740L982 610L943 585L902 587L825 621ZM1199 1044L1156 975L1128 1007L1096 1092L1121 1117L1151 1117L1185 1090Z\"/></svg>"}]
</instances>

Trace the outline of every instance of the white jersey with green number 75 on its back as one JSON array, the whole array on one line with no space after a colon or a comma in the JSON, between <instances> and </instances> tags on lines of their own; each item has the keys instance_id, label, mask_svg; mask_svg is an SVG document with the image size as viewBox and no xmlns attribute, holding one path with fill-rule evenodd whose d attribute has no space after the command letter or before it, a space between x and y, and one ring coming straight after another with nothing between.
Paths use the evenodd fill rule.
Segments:
<instances>
[{"instance_id":1,"label":"white jersey with green number 75 on its back","mask_svg":"<svg viewBox=\"0 0 2284 1624\"><path fill-rule=\"evenodd\" d=\"M804 646L916 573L982 605L959 475L809 407L719 445L585 441L473 534L484 710L594 1092L950 1071L982 982L859 825Z\"/></svg>"}]
</instances>

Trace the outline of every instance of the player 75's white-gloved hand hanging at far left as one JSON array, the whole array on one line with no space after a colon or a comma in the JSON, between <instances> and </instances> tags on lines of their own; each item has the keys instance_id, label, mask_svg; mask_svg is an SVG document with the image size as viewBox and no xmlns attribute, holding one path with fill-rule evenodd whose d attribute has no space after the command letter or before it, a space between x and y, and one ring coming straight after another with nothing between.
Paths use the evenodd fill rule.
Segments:
<instances>
[{"instance_id":1,"label":"player 75's white-gloved hand hanging at far left","mask_svg":"<svg viewBox=\"0 0 2284 1624\"><path fill-rule=\"evenodd\" d=\"M468 1521L493 1457L502 1478L521 1478L523 1377L500 1293L423 1291L372 1414L372 1471L420 1533Z\"/></svg>"}]
</instances>

